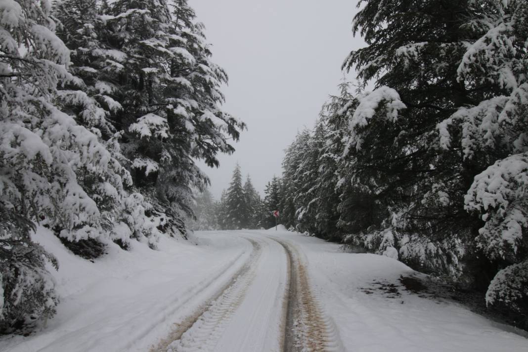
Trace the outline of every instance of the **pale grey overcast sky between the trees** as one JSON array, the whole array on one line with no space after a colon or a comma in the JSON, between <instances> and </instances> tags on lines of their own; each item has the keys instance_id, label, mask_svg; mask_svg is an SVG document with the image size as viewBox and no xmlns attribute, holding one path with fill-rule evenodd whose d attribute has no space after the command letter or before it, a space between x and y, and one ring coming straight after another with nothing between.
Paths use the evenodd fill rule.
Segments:
<instances>
[{"instance_id":1,"label":"pale grey overcast sky between the trees","mask_svg":"<svg viewBox=\"0 0 528 352\"><path fill-rule=\"evenodd\" d=\"M341 64L363 41L352 35L356 0L190 0L205 24L213 61L229 74L223 108L248 125L220 167L201 168L219 199L235 164L263 196L281 174L284 149L312 128L343 78Z\"/></svg>"}]
</instances>

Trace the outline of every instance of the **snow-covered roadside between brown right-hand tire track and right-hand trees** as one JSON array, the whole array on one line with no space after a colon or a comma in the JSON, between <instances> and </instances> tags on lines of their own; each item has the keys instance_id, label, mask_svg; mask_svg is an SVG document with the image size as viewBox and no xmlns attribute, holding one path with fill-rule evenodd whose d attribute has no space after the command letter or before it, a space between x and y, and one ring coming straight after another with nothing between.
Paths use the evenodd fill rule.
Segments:
<instances>
[{"instance_id":1,"label":"snow-covered roadside between brown right-hand tire track and right-hand trees","mask_svg":"<svg viewBox=\"0 0 528 352\"><path fill-rule=\"evenodd\" d=\"M301 234L284 231L279 236L304 252L314 294L346 351L528 350L528 340L513 334L513 328L432 294L406 290L401 277L423 274L399 261L344 253L340 245Z\"/></svg>"}]
</instances>

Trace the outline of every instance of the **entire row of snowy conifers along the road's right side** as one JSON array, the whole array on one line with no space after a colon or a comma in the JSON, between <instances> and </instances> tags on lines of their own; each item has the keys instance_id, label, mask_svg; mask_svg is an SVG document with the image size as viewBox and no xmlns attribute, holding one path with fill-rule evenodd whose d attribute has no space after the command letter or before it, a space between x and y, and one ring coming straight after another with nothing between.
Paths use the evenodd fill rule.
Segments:
<instances>
[{"instance_id":1,"label":"entire row of snowy conifers along the road's right side","mask_svg":"<svg viewBox=\"0 0 528 352\"><path fill-rule=\"evenodd\" d=\"M281 222L478 290L528 328L528 2L359 6L367 45L343 65L358 83L286 150Z\"/></svg>"}]
</instances>

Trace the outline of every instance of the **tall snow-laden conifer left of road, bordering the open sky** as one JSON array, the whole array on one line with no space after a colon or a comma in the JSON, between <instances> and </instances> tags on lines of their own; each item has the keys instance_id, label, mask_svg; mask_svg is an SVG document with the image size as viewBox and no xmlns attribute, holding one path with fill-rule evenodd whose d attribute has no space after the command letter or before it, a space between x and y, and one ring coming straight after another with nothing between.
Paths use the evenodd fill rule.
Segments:
<instances>
[{"instance_id":1,"label":"tall snow-laden conifer left of road, bordering the open sky","mask_svg":"<svg viewBox=\"0 0 528 352\"><path fill-rule=\"evenodd\" d=\"M163 229L185 236L192 188L209 182L193 158L218 165L216 153L233 151L227 140L238 139L243 123L220 109L227 76L210 61L203 27L185 1L173 5L171 16L165 0L116 1L101 18L119 48L115 126L124 131L134 185L153 204L150 213L166 213Z\"/></svg>"}]
</instances>

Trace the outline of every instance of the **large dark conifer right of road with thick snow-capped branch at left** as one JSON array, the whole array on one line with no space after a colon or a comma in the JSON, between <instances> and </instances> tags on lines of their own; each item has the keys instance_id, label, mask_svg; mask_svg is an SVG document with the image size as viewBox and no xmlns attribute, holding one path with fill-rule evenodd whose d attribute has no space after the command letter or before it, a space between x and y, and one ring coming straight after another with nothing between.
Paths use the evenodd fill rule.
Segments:
<instances>
[{"instance_id":1,"label":"large dark conifer right of road with thick snow-capped branch at left","mask_svg":"<svg viewBox=\"0 0 528 352\"><path fill-rule=\"evenodd\" d=\"M361 94L357 108L349 110L345 151L359 166L353 168L352 182L375 195L385 213L374 229L391 229L415 238L422 249L434 248L418 260L439 258L441 265L434 269L431 261L430 269L456 277L460 241L469 243L478 227L463 203L475 166L464 164L457 148L439 148L436 126L489 92L457 80L465 43L479 37L464 27L479 5L361 3L354 31L361 31L368 46L352 52L345 66L356 66L363 84L376 79L376 89Z\"/></svg>"}]
</instances>

